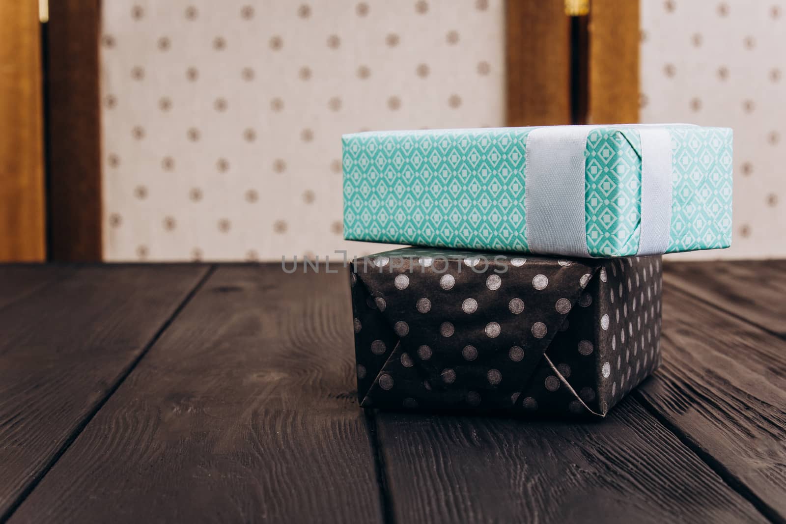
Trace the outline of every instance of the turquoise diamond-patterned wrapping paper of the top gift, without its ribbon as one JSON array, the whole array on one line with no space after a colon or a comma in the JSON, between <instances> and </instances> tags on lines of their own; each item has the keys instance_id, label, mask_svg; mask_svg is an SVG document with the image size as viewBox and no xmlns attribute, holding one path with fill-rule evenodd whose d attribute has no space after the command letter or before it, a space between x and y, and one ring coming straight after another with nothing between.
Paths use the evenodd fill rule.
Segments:
<instances>
[{"instance_id":1,"label":"turquoise diamond-patterned wrapping paper of the top gift, without its ribbon","mask_svg":"<svg viewBox=\"0 0 786 524\"><path fill-rule=\"evenodd\" d=\"M666 252L729 247L732 130L670 125L672 209ZM343 137L344 238L529 253L524 188L535 127ZM601 126L586 141L589 255L637 254L641 136ZM560 255L560 253L553 253Z\"/></svg>"}]
</instances>

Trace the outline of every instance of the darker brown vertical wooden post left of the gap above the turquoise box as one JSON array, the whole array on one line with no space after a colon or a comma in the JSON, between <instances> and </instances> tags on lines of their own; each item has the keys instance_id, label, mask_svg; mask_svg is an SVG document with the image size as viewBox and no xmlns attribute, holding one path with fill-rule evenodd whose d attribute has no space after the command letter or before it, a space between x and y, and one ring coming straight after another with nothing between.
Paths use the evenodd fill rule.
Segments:
<instances>
[{"instance_id":1,"label":"darker brown vertical wooden post left of the gap above the turquoise box","mask_svg":"<svg viewBox=\"0 0 786 524\"><path fill-rule=\"evenodd\" d=\"M564 0L505 2L509 126L571 123L570 19Z\"/></svg>"}]
</instances>

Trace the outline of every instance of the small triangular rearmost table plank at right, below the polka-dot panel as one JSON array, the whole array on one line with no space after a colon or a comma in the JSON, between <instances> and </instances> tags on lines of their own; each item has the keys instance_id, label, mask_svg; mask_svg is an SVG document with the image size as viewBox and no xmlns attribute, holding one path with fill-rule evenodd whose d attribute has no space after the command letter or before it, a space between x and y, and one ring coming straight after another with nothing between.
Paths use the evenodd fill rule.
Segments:
<instances>
[{"instance_id":1,"label":"small triangular rearmost table plank at right, below the polka-dot panel","mask_svg":"<svg viewBox=\"0 0 786 524\"><path fill-rule=\"evenodd\" d=\"M786 337L786 260L670 262L663 280Z\"/></svg>"}]
</instances>

